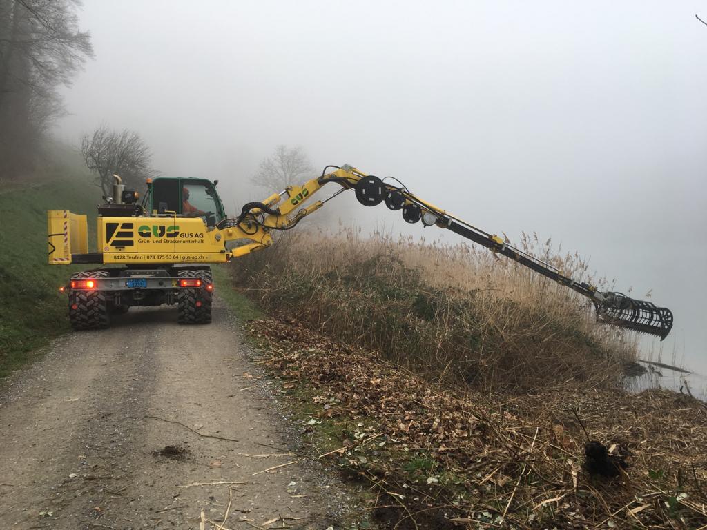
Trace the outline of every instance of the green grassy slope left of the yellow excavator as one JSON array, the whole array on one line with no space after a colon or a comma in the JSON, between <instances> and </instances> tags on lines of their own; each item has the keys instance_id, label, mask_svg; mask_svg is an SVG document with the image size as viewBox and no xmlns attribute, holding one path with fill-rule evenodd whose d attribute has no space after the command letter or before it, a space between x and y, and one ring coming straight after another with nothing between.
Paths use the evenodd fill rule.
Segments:
<instances>
[{"instance_id":1,"label":"green grassy slope left of the yellow excavator","mask_svg":"<svg viewBox=\"0 0 707 530\"><path fill-rule=\"evenodd\" d=\"M66 154L0 192L0 377L70 329L66 296L58 288L82 267L47 264L47 210L88 214L90 249L99 199L100 189Z\"/></svg>"}]
</instances>

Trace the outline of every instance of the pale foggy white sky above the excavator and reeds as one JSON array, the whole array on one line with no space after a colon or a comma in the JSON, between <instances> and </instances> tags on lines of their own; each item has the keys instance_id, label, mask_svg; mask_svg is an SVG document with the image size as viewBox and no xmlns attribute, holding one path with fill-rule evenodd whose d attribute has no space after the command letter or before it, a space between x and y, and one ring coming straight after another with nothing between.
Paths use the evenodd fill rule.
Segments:
<instances>
[{"instance_id":1,"label":"pale foggy white sky above the excavator and reeds","mask_svg":"<svg viewBox=\"0 0 707 530\"><path fill-rule=\"evenodd\" d=\"M707 4L86 0L95 60L59 134L135 129L158 170L221 179L229 207L261 198L245 184L279 143L393 175L489 232L553 237L636 298L652 289L675 314L665 358L707 372L696 13Z\"/></svg>"}]
</instances>

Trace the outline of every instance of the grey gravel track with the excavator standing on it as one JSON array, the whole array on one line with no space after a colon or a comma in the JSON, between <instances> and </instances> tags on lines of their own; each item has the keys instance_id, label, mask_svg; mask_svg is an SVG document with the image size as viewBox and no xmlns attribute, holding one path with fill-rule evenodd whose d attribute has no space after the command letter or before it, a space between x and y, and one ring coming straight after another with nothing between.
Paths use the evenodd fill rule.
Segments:
<instances>
[{"instance_id":1,"label":"grey gravel track with the excavator standing on it","mask_svg":"<svg viewBox=\"0 0 707 530\"><path fill-rule=\"evenodd\" d=\"M296 436L226 310L217 304L208 326L176 320L170 308L131 310L59 339L2 384L3 528L199 529L203 510L209 529L229 500L230 529L337 526L344 493L286 453ZM238 484L232 498L229 485L192 485L214 482ZM276 517L293 519L265 525Z\"/></svg>"}]
</instances>

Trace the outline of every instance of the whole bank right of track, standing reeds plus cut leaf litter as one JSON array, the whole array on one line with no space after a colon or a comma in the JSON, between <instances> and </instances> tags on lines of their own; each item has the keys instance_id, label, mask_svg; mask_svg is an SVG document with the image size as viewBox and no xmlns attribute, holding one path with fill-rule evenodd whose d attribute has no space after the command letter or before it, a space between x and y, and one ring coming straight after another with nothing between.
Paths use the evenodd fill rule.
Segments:
<instances>
[{"instance_id":1,"label":"whole bank right of track, standing reeds plus cut leaf litter","mask_svg":"<svg viewBox=\"0 0 707 530\"><path fill-rule=\"evenodd\" d=\"M228 296L276 316L247 325L257 362L309 454L366 486L359 528L707 524L707 408L621 391L634 343L583 300L468 247L315 239L236 261ZM628 467L590 472L589 440Z\"/></svg>"}]
</instances>

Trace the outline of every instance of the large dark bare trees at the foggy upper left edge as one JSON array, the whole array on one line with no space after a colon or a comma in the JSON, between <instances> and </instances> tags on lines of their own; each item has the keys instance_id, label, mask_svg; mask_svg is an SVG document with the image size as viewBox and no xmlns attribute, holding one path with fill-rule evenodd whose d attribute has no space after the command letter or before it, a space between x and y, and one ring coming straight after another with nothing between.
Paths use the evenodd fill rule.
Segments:
<instances>
[{"instance_id":1,"label":"large dark bare trees at the foggy upper left edge","mask_svg":"<svg viewBox=\"0 0 707 530\"><path fill-rule=\"evenodd\" d=\"M86 58L78 0L0 0L0 179L28 169L43 134L62 115L59 85Z\"/></svg>"}]
</instances>

